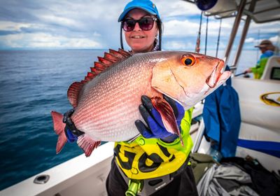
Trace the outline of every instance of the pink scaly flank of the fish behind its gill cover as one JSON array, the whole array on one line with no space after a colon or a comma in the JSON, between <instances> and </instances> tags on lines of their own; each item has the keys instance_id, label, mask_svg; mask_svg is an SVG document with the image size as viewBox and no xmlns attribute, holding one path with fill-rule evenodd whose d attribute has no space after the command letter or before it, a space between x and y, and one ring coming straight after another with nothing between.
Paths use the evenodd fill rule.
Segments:
<instances>
[{"instance_id":1,"label":"pink scaly flank of the fish behind its gill cover","mask_svg":"<svg viewBox=\"0 0 280 196\"><path fill-rule=\"evenodd\" d=\"M105 139L106 141L129 140L139 133L134 126L135 120L142 119L138 111L138 106L141 104L139 97L141 94L151 94L153 91L151 85L148 87L151 83L148 78L151 78L151 71L155 63L148 64L148 57L141 58L138 62L137 69L135 69L135 66L131 66L134 64L133 57L131 57L86 84L84 93L80 97L82 106L78 107L71 116L78 130L90 134L94 139ZM147 74L147 71L150 74ZM89 114L89 109L94 111L94 115ZM128 113L132 116L129 116ZM124 127L123 123L127 126ZM111 132L111 130L114 131ZM127 130L130 131L127 132ZM118 135L118 139L116 139L116 135Z\"/></svg>"}]
</instances>

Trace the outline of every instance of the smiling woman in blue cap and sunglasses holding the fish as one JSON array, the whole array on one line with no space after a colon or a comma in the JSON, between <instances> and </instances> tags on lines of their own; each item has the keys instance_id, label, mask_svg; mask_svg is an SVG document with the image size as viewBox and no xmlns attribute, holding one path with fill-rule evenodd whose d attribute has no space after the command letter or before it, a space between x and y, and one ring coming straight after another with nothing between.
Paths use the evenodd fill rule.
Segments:
<instances>
[{"instance_id":1,"label":"smiling woman in blue cap and sunglasses holding the fish","mask_svg":"<svg viewBox=\"0 0 280 196\"><path fill-rule=\"evenodd\" d=\"M121 22L120 41L125 41L133 53L161 50L162 22L155 4L150 0L133 0L127 3L118 22ZM157 38L158 37L158 38ZM181 145L175 134L162 125L158 112L149 97L142 97L139 111L146 121L135 125L141 136L134 141L116 142L111 171L106 180L108 195L197 195L188 155L193 146L190 139L190 121L193 109L183 107L165 97L174 109L181 135Z\"/></svg>"}]
</instances>

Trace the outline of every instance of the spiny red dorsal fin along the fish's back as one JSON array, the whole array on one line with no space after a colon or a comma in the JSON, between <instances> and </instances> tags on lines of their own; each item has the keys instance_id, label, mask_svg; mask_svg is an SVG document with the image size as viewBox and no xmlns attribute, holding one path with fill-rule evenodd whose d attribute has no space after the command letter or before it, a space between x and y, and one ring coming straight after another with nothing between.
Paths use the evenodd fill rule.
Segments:
<instances>
[{"instance_id":1,"label":"spiny red dorsal fin along the fish's back","mask_svg":"<svg viewBox=\"0 0 280 196\"><path fill-rule=\"evenodd\" d=\"M104 52L104 57L97 57L98 62L94 62L94 66L90 67L90 72L87 73L85 79L81 80L80 82L72 83L67 91L69 102L73 108L78 106L79 93L85 83L92 80L95 76L106 70L109 66L121 62L130 56L132 56L131 52L127 52L119 48L118 51L109 49L109 52Z\"/></svg>"}]
</instances>

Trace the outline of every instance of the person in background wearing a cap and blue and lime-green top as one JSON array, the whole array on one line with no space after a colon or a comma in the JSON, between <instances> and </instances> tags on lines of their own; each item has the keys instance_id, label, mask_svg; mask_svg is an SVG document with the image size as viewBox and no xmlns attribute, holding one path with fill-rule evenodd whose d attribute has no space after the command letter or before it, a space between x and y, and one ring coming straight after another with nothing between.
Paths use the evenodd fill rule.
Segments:
<instances>
[{"instance_id":1,"label":"person in background wearing a cap and blue and lime-green top","mask_svg":"<svg viewBox=\"0 0 280 196\"><path fill-rule=\"evenodd\" d=\"M260 42L260 45L255 45L255 47L260 49L262 55L260 55L260 59L258 60L255 67L251 67L245 72L253 73L255 79L260 79L265 69L265 64L267 64L267 59L274 55L275 46L271 41L263 40Z\"/></svg>"}]
</instances>

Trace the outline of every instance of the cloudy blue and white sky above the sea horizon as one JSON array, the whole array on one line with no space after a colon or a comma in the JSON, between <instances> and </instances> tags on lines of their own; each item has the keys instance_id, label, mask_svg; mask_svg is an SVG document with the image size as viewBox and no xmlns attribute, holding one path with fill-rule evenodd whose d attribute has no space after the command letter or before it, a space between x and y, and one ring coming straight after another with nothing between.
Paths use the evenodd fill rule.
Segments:
<instances>
[{"instance_id":1,"label":"cloudy blue and white sky above the sea horizon","mask_svg":"<svg viewBox=\"0 0 280 196\"><path fill-rule=\"evenodd\" d=\"M127 0L0 0L0 50L120 48L120 23ZM195 50L201 11L181 0L153 0L164 24L162 48ZM204 50L206 17L202 20ZM233 18L222 21L220 49L228 44ZM219 20L209 17L207 50L216 50ZM244 21L241 22L243 27ZM241 34L239 28L235 46ZM276 43L280 22L251 22L244 44L254 49L262 39ZM127 45L125 45L125 49Z\"/></svg>"}]
</instances>

